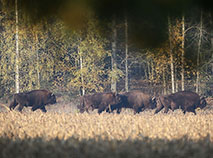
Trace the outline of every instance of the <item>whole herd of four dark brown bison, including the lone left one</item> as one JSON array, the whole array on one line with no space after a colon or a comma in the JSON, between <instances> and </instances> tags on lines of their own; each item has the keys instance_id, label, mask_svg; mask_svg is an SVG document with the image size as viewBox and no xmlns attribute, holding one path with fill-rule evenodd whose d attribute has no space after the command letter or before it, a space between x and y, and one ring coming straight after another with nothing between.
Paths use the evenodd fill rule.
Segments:
<instances>
[{"instance_id":1,"label":"whole herd of four dark brown bison, including the lone left one","mask_svg":"<svg viewBox=\"0 0 213 158\"><path fill-rule=\"evenodd\" d=\"M45 105L55 104L56 96L48 90L33 90L30 92L16 93L10 103L10 110L18 105L18 110L22 111L24 107L32 107L32 111L41 109L46 112ZM98 113L121 112L122 108L133 109L134 114L140 113L145 109L155 109L155 114L161 111L167 113L169 109L182 109L183 113L193 112L196 114L196 108L204 108L207 105L204 97L191 91L181 91L170 95L151 97L139 90L123 93L103 92L80 97L80 104L77 106L83 113L98 109Z\"/></svg>"}]
</instances>

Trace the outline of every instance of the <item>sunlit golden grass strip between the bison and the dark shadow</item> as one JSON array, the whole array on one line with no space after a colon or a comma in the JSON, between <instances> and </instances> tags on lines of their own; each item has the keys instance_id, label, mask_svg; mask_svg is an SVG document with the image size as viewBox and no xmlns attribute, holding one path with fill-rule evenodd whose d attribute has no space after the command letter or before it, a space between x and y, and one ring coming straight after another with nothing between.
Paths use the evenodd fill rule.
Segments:
<instances>
[{"instance_id":1,"label":"sunlit golden grass strip between the bison and the dark shadow","mask_svg":"<svg viewBox=\"0 0 213 158\"><path fill-rule=\"evenodd\" d=\"M101 115L97 113L4 112L0 113L0 136L46 139L141 139L143 137L198 140L210 136L213 141L213 113L176 113L154 115L145 112Z\"/></svg>"}]
</instances>

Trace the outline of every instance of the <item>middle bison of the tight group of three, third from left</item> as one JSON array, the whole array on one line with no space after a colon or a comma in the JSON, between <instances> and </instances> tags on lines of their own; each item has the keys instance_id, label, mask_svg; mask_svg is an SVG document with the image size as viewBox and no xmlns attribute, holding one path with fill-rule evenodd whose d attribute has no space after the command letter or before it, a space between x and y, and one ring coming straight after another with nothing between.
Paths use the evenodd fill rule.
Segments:
<instances>
[{"instance_id":1,"label":"middle bison of the tight group of three, third from left","mask_svg":"<svg viewBox=\"0 0 213 158\"><path fill-rule=\"evenodd\" d=\"M117 109L117 113L120 112L121 108L132 108L134 114L144 111L145 109L156 108L155 97L151 98L150 95L141 91L124 92L120 95L121 103L112 105L112 110Z\"/></svg>"}]
</instances>

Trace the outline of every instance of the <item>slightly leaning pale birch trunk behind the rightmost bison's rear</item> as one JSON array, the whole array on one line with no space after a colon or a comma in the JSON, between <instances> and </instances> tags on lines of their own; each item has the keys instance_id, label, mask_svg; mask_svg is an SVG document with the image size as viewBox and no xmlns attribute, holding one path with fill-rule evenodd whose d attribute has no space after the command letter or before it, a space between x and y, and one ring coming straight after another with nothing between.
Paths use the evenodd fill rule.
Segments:
<instances>
[{"instance_id":1,"label":"slightly leaning pale birch trunk behind the rightmost bison's rear","mask_svg":"<svg viewBox=\"0 0 213 158\"><path fill-rule=\"evenodd\" d=\"M172 82L172 93L175 92L175 75L174 75L174 57L173 57L173 50L172 50L172 32L171 32L171 21L170 17L168 16L168 29L169 29L169 49L170 49L170 67L171 67L171 82Z\"/></svg>"}]
</instances>

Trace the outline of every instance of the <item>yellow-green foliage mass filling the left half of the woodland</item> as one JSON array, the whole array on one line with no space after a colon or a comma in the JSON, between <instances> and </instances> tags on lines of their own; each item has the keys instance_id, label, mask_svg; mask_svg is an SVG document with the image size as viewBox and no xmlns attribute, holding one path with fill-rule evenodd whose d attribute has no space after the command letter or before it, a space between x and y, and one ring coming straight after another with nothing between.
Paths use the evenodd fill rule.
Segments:
<instances>
[{"instance_id":1,"label":"yellow-green foliage mass filling the left half of the woodland","mask_svg":"<svg viewBox=\"0 0 213 158\"><path fill-rule=\"evenodd\" d=\"M15 92L15 21L10 19L13 16L1 14L5 28L0 39L1 96ZM76 32L57 18L52 18L49 24L34 26L22 23L19 18L20 91L39 88L78 91L82 86L88 92L104 90L110 72L105 69L104 60L110 53L105 49L107 41L98 32L96 19L89 19L87 29Z\"/></svg>"}]
</instances>

